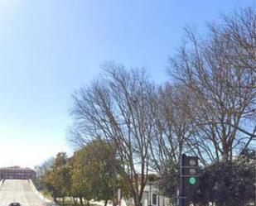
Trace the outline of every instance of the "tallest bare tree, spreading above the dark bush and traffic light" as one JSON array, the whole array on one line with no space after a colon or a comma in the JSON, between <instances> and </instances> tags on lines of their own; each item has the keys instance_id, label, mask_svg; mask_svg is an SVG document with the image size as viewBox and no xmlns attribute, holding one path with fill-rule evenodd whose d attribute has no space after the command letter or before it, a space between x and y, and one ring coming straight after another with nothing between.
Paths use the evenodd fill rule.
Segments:
<instances>
[{"instance_id":1,"label":"tallest bare tree, spreading above the dark bush and traffic light","mask_svg":"<svg viewBox=\"0 0 256 206\"><path fill-rule=\"evenodd\" d=\"M196 97L190 145L210 149L215 160L232 159L256 138L255 12L248 8L222 20L202 39L186 29L186 45L168 69Z\"/></svg>"}]
</instances>

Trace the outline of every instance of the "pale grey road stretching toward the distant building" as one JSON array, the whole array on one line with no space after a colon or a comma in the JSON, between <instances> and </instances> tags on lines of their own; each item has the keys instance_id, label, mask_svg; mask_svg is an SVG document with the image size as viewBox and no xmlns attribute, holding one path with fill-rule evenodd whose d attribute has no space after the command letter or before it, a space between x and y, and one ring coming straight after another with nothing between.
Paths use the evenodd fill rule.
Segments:
<instances>
[{"instance_id":1,"label":"pale grey road stretching toward the distant building","mask_svg":"<svg viewBox=\"0 0 256 206\"><path fill-rule=\"evenodd\" d=\"M18 202L22 206L50 206L32 190L28 180L5 180L0 187L0 206Z\"/></svg>"}]
</instances>

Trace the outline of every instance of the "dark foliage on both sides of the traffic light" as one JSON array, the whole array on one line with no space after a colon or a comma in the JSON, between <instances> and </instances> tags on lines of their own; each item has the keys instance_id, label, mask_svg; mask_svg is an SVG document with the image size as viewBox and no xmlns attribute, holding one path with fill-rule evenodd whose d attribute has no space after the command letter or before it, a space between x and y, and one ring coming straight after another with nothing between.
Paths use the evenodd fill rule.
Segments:
<instances>
[{"instance_id":1,"label":"dark foliage on both sides of the traffic light","mask_svg":"<svg viewBox=\"0 0 256 206\"><path fill-rule=\"evenodd\" d=\"M239 206L255 199L255 151L243 151L235 160L215 162L200 170L198 188L189 191L193 202ZM161 171L159 187L172 200L180 186L179 164L168 162Z\"/></svg>"}]
</instances>

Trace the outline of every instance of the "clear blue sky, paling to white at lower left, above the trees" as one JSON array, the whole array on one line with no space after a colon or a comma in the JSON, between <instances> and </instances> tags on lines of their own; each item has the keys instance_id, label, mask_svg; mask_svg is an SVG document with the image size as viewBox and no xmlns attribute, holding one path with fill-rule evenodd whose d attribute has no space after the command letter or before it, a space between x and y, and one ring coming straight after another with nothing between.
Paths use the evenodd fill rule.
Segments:
<instances>
[{"instance_id":1,"label":"clear blue sky, paling to white at lower left, above the trees","mask_svg":"<svg viewBox=\"0 0 256 206\"><path fill-rule=\"evenodd\" d=\"M183 28L254 0L0 0L0 166L71 151L70 93L106 60L165 80Z\"/></svg>"}]
</instances>

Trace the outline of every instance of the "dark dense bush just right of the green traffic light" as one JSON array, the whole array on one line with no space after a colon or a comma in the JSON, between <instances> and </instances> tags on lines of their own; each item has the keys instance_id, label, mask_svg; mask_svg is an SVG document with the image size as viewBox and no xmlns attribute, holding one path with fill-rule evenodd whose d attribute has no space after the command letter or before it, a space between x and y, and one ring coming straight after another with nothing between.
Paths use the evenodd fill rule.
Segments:
<instances>
[{"instance_id":1,"label":"dark dense bush just right of the green traffic light","mask_svg":"<svg viewBox=\"0 0 256 206\"><path fill-rule=\"evenodd\" d=\"M218 206L244 205L255 199L255 160L240 156L237 160L216 162L202 170L199 202Z\"/></svg>"}]
</instances>

